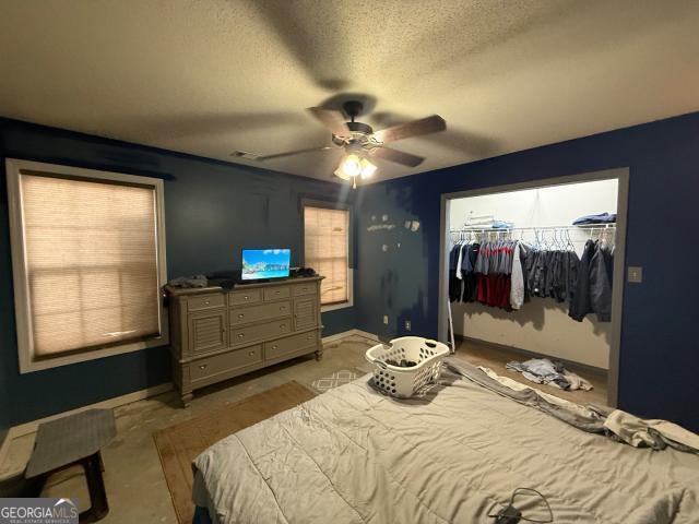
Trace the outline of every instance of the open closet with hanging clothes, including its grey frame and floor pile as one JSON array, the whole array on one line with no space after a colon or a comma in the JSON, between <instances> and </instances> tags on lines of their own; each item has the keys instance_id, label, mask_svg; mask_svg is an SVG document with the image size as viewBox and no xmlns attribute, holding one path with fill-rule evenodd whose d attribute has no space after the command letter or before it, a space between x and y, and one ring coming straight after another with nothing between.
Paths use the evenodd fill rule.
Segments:
<instances>
[{"instance_id":1,"label":"open closet with hanging clothes, including its grey frame and floor pile","mask_svg":"<svg viewBox=\"0 0 699 524\"><path fill-rule=\"evenodd\" d=\"M439 340L498 374L615 407L627 196L628 169L443 194Z\"/></svg>"}]
</instances>

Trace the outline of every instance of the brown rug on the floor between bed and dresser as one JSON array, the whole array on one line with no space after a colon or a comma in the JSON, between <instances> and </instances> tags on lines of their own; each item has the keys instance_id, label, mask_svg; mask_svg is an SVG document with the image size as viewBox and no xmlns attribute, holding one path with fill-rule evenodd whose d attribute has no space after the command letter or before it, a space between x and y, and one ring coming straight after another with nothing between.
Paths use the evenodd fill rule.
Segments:
<instances>
[{"instance_id":1,"label":"brown rug on the floor between bed and dresser","mask_svg":"<svg viewBox=\"0 0 699 524\"><path fill-rule=\"evenodd\" d=\"M190 524L194 516L191 464L197 455L221 439L313 396L308 388L292 381L153 433L179 523Z\"/></svg>"}]
</instances>

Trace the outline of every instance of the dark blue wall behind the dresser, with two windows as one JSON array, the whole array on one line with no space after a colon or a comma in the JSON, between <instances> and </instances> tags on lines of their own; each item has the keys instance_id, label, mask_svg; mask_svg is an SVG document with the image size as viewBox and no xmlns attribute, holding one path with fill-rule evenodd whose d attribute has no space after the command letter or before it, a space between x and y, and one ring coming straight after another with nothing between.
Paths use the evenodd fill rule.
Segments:
<instances>
[{"instance_id":1,"label":"dark blue wall behind the dresser, with two windows","mask_svg":"<svg viewBox=\"0 0 699 524\"><path fill-rule=\"evenodd\" d=\"M168 277L239 267L242 246L288 246L297 264L301 199L354 196L332 182L0 119L0 430L156 385L170 374L166 347L19 373L5 157L165 179ZM323 334L353 329L354 314L354 308L324 313Z\"/></svg>"}]
</instances>

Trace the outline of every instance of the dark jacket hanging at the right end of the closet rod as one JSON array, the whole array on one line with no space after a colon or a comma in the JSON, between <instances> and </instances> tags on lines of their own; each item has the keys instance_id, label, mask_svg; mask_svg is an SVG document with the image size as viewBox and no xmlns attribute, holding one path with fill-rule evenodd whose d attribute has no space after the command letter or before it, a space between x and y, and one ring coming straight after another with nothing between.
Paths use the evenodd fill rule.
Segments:
<instances>
[{"instance_id":1,"label":"dark jacket hanging at the right end of the closet rod","mask_svg":"<svg viewBox=\"0 0 699 524\"><path fill-rule=\"evenodd\" d=\"M600 322L612 320L612 274L614 257L604 240L588 240L580 259L578 284L568 315L582 322L596 313Z\"/></svg>"}]
</instances>

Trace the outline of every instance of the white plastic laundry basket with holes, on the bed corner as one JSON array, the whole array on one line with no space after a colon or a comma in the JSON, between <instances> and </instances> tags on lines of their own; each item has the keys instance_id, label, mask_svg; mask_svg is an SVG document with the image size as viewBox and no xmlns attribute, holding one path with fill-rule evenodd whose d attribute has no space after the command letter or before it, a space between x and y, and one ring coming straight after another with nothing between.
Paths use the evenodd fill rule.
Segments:
<instances>
[{"instance_id":1,"label":"white plastic laundry basket with holes, on the bed corner","mask_svg":"<svg viewBox=\"0 0 699 524\"><path fill-rule=\"evenodd\" d=\"M366 359L375 366L374 383L389 395L407 398L425 384L439 378L441 361L449 355L449 347L441 342L422 336L402 336L390 346L379 344L367 349ZM417 362L412 368L386 364L402 359Z\"/></svg>"}]
</instances>

